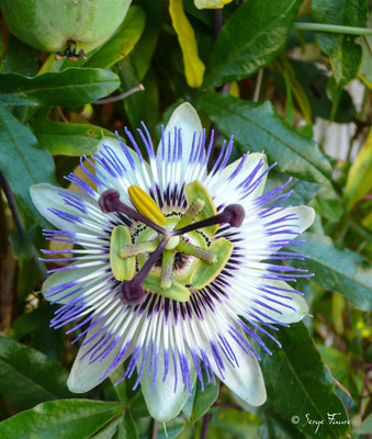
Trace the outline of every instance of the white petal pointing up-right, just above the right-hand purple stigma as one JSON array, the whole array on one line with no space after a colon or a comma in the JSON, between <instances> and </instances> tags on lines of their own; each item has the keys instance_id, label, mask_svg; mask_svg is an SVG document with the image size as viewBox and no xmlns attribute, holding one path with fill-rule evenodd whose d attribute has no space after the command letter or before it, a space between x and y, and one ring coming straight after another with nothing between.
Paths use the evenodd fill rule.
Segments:
<instances>
[{"instance_id":1,"label":"white petal pointing up-right, just above the right-hand purple stigma","mask_svg":"<svg viewBox=\"0 0 372 439\"><path fill-rule=\"evenodd\" d=\"M241 191L241 189L238 189L238 185L251 175L253 169L259 165L260 160L262 160L262 167L252 180L251 183L253 183L268 169L268 159L264 154L249 154L243 162L241 169L239 169L238 173L232 180L229 180L229 178L240 165L241 159L235 160L233 164L228 165L221 173L215 175L208 183L208 190L211 191L212 196L215 199L215 204L221 205L238 203L246 192L244 190ZM258 198L261 195L267 181L267 175L262 177L258 187L251 193L249 193L248 199ZM245 203L246 202L247 198L245 199Z\"/></svg>"}]
</instances>

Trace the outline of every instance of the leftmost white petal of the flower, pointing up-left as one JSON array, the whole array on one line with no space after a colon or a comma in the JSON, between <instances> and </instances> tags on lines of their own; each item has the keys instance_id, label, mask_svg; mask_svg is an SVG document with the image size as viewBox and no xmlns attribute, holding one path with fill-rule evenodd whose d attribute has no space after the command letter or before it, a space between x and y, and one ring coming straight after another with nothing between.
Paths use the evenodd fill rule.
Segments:
<instances>
[{"instance_id":1,"label":"leftmost white petal of the flower, pointing up-left","mask_svg":"<svg viewBox=\"0 0 372 439\"><path fill-rule=\"evenodd\" d=\"M30 188L30 194L38 212L57 228L66 232L87 232L87 229L90 229L89 226L84 226L83 223L71 223L60 218L58 215L49 211L49 209L57 209L67 214L76 215L81 219L90 219L88 215L84 215L74 206L66 204L63 196L57 192L59 190L79 196L82 203L97 206L95 201L82 191L71 191L63 188L56 188L48 183L32 185ZM91 230L90 233L94 235L97 234L94 230Z\"/></svg>"}]
</instances>

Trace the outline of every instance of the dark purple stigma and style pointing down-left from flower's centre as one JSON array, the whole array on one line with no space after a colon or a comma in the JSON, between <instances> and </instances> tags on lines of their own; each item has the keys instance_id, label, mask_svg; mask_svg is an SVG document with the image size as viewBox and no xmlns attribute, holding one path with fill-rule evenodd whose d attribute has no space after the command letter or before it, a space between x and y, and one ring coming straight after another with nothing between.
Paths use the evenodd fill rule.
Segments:
<instances>
[{"instance_id":1,"label":"dark purple stigma and style pointing down-left from flower's centre","mask_svg":"<svg viewBox=\"0 0 372 439\"><path fill-rule=\"evenodd\" d=\"M128 305L138 305L143 303L146 297L146 293L144 291L144 282L147 278L148 273L150 272L154 263L158 259L158 257L162 254L166 245L168 243L169 236L165 236L160 244L158 245L157 249L149 256L147 261L144 263L143 268L138 271L138 273L122 284L121 294L123 301Z\"/></svg>"}]
</instances>

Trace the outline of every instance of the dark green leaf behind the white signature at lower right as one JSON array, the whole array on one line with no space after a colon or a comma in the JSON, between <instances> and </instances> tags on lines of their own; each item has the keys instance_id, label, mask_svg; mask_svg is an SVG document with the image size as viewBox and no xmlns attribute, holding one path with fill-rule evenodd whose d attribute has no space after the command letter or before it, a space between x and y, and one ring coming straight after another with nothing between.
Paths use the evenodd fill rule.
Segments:
<instances>
[{"instance_id":1,"label":"dark green leaf behind the white signature at lower right","mask_svg":"<svg viewBox=\"0 0 372 439\"><path fill-rule=\"evenodd\" d=\"M341 401L334 394L329 370L303 323L281 328L274 334L281 342L267 342L272 356L262 354L260 361L264 383L275 409L285 419L312 438L339 438L349 430L348 416ZM327 414L346 424L331 424ZM297 418L296 418L297 417ZM311 424L309 420L322 423Z\"/></svg>"}]
</instances>

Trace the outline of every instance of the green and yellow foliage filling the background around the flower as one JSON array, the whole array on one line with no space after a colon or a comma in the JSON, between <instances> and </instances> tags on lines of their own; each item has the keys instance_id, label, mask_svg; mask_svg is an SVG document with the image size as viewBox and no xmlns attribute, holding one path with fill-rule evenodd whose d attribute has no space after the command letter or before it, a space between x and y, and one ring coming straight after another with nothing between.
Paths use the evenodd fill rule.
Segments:
<instances>
[{"instance_id":1,"label":"green and yellow foliage filling the background around the flower","mask_svg":"<svg viewBox=\"0 0 372 439\"><path fill-rule=\"evenodd\" d=\"M370 9L367 0L136 0L86 59L33 48L1 19L2 439L372 435ZM232 160L250 150L278 162L268 190L293 177L289 203L316 210L304 234L311 259L294 264L315 275L297 282L309 315L279 331L281 350L262 356L262 407L233 399L223 385L195 385L162 426L131 380L117 387L105 380L87 395L67 390L78 347L67 328L49 328L56 306L40 293L59 262L37 260L38 248L61 243L44 241L29 189L67 187L79 156L124 126L134 132L144 121L156 142L183 101L216 131L216 155L234 134Z\"/></svg>"}]
</instances>

